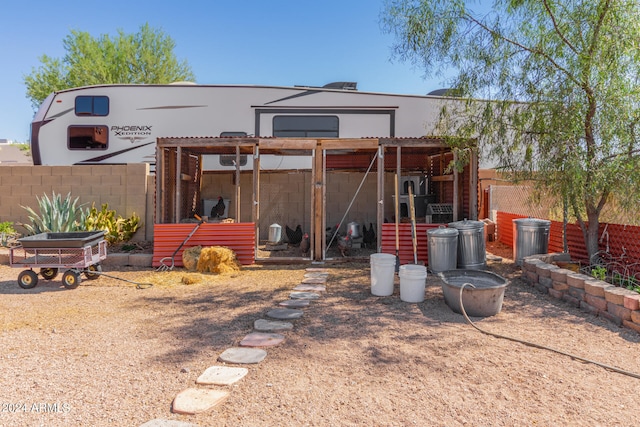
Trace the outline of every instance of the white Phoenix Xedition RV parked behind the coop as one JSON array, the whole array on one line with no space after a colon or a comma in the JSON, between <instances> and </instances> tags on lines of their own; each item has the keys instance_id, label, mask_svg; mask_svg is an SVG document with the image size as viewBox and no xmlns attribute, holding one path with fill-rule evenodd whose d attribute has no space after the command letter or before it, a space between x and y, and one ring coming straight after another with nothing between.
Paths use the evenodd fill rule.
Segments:
<instances>
[{"instance_id":1,"label":"white Phoenix Xedition RV parked behind the coop","mask_svg":"<svg viewBox=\"0 0 640 427\"><path fill-rule=\"evenodd\" d=\"M31 152L36 165L155 166L158 137L420 137L432 134L445 99L360 92L348 82L80 87L42 103L31 124ZM205 159L205 169L235 169L229 157ZM288 163L299 159L272 160L261 167L301 168ZM241 163L252 167L250 158Z\"/></svg>"}]
</instances>

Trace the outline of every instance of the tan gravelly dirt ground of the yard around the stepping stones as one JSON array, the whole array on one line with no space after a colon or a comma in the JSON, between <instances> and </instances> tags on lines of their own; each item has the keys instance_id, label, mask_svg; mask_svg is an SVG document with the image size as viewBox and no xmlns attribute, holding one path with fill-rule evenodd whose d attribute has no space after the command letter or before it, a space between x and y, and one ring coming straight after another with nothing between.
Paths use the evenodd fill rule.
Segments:
<instances>
[{"instance_id":1,"label":"tan gravelly dirt ground of the yard around the stepping stones","mask_svg":"<svg viewBox=\"0 0 640 427\"><path fill-rule=\"evenodd\" d=\"M502 311L483 330L640 374L640 336L543 295L509 259ZM640 379L548 350L485 335L444 303L429 275L423 303L370 292L366 263L330 271L327 292L283 344L226 389L206 413L171 402L253 322L289 298L309 265L251 266L230 275L105 271L65 289L31 290L0 266L0 426L137 426L152 419L200 426L629 426ZM200 387L200 386L198 386Z\"/></svg>"}]
</instances>

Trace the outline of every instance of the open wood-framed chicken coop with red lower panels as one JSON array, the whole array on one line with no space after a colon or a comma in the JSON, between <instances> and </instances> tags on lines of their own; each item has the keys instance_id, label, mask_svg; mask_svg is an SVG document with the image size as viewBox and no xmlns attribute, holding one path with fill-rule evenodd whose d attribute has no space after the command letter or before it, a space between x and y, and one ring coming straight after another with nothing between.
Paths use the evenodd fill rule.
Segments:
<instances>
[{"instance_id":1,"label":"open wood-framed chicken coop with red lower panels","mask_svg":"<svg viewBox=\"0 0 640 427\"><path fill-rule=\"evenodd\" d=\"M203 160L212 156L224 158L235 167L204 170ZM264 167L267 159L287 157L299 160L300 166ZM326 230L334 224L342 228L350 219L357 218L361 224L374 225L377 240L374 252L395 253L394 201L395 194L403 194L404 190L402 179L398 181L399 188L394 188L395 176L422 177L424 187L428 183L428 190L424 187L423 190L429 201L449 206L451 220L476 219L475 150L470 158L463 171L448 172L447 166L456 160L456 153L442 139L428 137L158 138L154 264L170 256L184 240L193 229L195 214L208 214L203 211L204 200L220 193L229 200L228 216L232 220L221 222L210 218L186 246L228 246L243 264L266 261L258 256L258 246L267 239L269 225L275 218L283 229L285 224L291 224L292 228L293 224L301 224L308 230L312 243L309 256L278 261L325 261L332 259ZM399 197L400 202L402 196ZM411 246L407 230L411 237L406 219L400 218L399 222L402 258L402 248ZM426 262L424 231L439 224L424 216L418 222L419 258ZM178 259L176 265L180 265Z\"/></svg>"}]
</instances>

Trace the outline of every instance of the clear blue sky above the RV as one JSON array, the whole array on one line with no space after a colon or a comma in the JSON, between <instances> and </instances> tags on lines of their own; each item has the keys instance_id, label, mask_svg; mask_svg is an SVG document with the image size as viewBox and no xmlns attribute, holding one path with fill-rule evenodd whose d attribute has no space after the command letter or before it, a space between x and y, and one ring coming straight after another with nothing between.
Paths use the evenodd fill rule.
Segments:
<instances>
[{"instance_id":1,"label":"clear blue sky above the RV","mask_svg":"<svg viewBox=\"0 0 640 427\"><path fill-rule=\"evenodd\" d=\"M202 84L321 86L355 81L362 91L426 94L445 87L392 58L380 26L383 0L31 0L0 14L0 138L26 142L34 111L24 76L43 54L62 58L72 30L94 37L149 23L176 43Z\"/></svg>"}]
</instances>

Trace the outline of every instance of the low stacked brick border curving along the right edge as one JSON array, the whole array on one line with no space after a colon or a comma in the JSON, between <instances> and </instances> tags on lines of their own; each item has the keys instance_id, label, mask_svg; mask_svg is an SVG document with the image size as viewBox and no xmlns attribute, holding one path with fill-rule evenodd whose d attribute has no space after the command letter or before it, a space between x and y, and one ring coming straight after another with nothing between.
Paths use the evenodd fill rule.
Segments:
<instances>
[{"instance_id":1,"label":"low stacked brick border curving along the right edge","mask_svg":"<svg viewBox=\"0 0 640 427\"><path fill-rule=\"evenodd\" d=\"M542 293L640 333L640 294L555 264L568 261L565 253L526 257L522 278Z\"/></svg>"}]
</instances>

